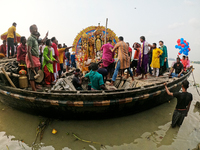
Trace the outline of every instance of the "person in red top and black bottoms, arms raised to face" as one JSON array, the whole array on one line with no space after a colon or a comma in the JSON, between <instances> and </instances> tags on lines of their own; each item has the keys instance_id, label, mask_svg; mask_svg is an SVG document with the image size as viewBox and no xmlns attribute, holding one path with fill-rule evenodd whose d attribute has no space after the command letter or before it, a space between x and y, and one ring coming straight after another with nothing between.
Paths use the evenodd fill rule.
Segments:
<instances>
[{"instance_id":1,"label":"person in red top and black bottoms, arms raised to face","mask_svg":"<svg viewBox=\"0 0 200 150\"><path fill-rule=\"evenodd\" d=\"M137 62L139 59L141 45L139 43L134 43L133 49L135 50L135 53L134 53L133 61L131 63L131 68L133 68L133 74L135 75L136 74L135 69L137 68Z\"/></svg>"}]
</instances>

